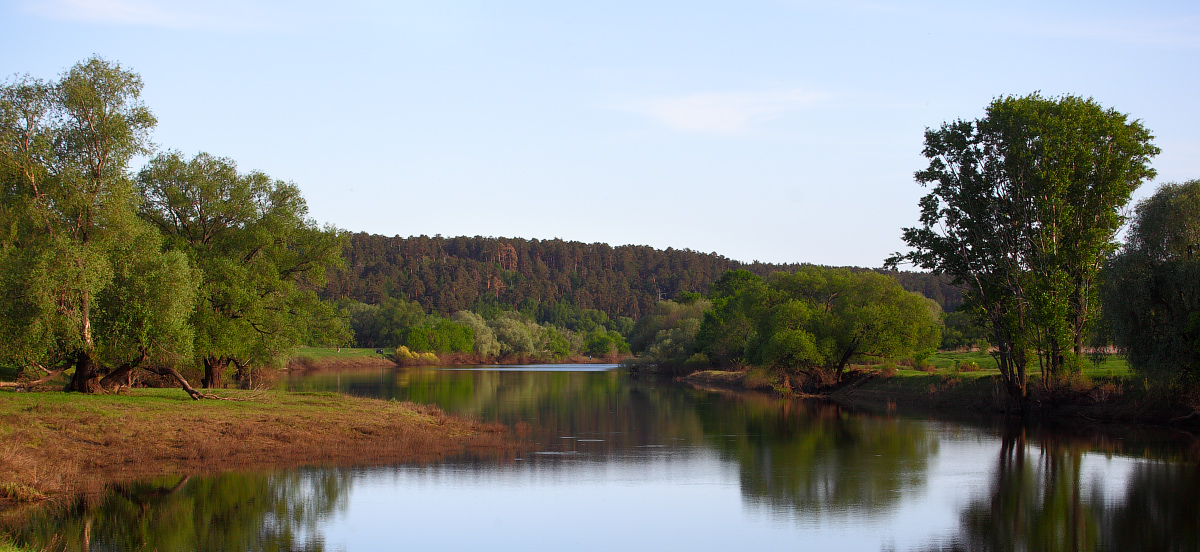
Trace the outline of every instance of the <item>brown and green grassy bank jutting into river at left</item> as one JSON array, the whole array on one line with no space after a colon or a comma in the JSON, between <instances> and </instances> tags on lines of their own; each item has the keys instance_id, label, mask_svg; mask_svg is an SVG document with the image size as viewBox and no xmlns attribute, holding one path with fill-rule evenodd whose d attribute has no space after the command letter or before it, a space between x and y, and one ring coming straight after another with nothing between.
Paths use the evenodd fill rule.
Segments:
<instances>
[{"instance_id":1,"label":"brown and green grassy bank jutting into river at left","mask_svg":"<svg viewBox=\"0 0 1200 552\"><path fill-rule=\"evenodd\" d=\"M336 394L178 389L120 395L4 392L0 508L100 491L157 475L301 466L510 460L517 440L499 424L437 407Z\"/></svg>"}]
</instances>

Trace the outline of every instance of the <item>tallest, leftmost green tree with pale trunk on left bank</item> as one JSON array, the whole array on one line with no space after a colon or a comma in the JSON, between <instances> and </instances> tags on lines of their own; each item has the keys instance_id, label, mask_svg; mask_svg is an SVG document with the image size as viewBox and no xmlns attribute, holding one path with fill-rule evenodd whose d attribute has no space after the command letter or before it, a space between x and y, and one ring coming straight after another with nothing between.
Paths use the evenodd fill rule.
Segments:
<instances>
[{"instance_id":1,"label":"tallest, leftmost green tree with pale trunk on left bank","mask_svg":"<svg viewBox=\"0 0 1200 552\"><path fill-rule=\"evenodd\" d=\"M191 354L197 275L137 217L130 160L155 118L142 79L101 58L55 83L0 88L0 354L70 390L125 383L137 367L175 376Z\"/></svg>"}]
</instances>

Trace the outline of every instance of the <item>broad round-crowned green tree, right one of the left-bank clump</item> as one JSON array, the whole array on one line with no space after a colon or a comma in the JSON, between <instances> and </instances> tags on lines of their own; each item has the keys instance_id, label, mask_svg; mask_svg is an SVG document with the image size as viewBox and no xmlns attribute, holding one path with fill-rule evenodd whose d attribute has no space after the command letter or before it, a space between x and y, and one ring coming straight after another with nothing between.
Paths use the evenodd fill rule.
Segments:
<instances>
[{"instance_id":1,"label":"broad round-crowned green tree, right one of the left-bank clump","mask_svg":"<svg viewBox=\"0 0 1200 552\"><path fill-rule=\"evenodd\" d=\"M142 217L203 274L191 323L205 388L222 386L230 364L241 379L282 361L314 329L322 341L349 338L344 319L311 290L342 262L343 236L308 218L295 185L172 151L138 173L138 191Z\"/></svg>"}]
</instances>

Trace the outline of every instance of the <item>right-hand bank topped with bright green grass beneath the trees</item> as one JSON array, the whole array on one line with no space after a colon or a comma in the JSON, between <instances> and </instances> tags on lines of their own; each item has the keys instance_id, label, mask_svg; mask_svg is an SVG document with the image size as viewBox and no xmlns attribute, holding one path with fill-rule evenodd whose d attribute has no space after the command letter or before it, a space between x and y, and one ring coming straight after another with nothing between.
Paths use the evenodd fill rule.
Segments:
<instances>
[{"instance_id":1,"label":"right-hand bank topped with bright green grass beneath the trees","mask_svg":"<svg viewBox=\"0 0 1200 552\"><path fill-rule=\"evenodd\" d=\"M779 378L763 370L703 371L685 380L708 388L790 395ZM1133 374L1123 360L1086 365L1082 374L1048 391L1030 376L1030 409L1040 416L1165 424L1189 408ZM923 370L911 365L856 366L828 398L871 410L977 414L1006 412L1000 371L986 353L938 353Z\"/></svg>"}]
</instances>

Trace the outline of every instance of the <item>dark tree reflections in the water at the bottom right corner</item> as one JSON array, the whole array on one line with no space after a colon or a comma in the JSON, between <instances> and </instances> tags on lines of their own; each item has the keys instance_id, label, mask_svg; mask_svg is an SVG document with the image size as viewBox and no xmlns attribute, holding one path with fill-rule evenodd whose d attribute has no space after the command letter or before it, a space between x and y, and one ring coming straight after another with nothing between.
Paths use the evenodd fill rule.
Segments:
<instances>
[{"instance_id":1,"label":"dark tree reflections in the water at the bottom right corner","mask_svg":"<svg viewBox=\"0 0 1200 552\"><path fill-rule=\"evenodd\" d=\"M1200 467L1145 461L1121 490L1085 480L1090 446L1007 427L992 482L961 514L960 534L930 546L971 551L1200 550Z\"/></svg>"}]
</instances>

